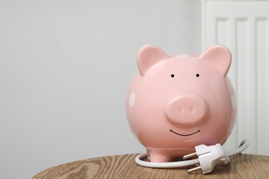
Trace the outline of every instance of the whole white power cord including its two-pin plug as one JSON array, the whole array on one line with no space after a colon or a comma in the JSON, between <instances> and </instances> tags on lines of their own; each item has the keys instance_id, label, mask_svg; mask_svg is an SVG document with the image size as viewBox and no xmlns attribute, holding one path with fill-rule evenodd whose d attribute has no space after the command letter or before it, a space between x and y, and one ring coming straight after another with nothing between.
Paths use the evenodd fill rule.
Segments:
<instances>
[{"instance_id":1,"label":"whole white power cord including its two-pin plug","mask_svg":"<svg viewBox=\"0 0 269 179\"><path fill-rule=\"evenodd\" d=\"M193 169L188 169L188 173L192 173L193 171L202 170L203 174L210 173L216 165L224 164L227 165L230 162L229 156L233 156L235 154L239 154L244 151L249 145L247 139L242 140L239 147L235 150L226 152L220 144L216 145L197 145L195 147L195 153L188 154L183 156L183 161L179 162L146 162L143 161L143 158L146 158L146 154L139 154L135 158L135 162L138 165L143 167L150 168L175 168L175 167L187 167L190 165L199 165L199 167L195 167ZM192 158L194 156L198 156L197 159L186 160L188 158Z\"/></svg>"}]
</instances>

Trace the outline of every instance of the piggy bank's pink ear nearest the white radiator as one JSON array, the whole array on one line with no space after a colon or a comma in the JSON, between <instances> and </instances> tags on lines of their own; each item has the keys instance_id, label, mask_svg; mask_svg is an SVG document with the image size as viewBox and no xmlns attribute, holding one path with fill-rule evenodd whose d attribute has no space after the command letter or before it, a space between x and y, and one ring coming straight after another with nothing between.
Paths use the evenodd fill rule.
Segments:
<instances>
[{"instance_id":1,"label":"piggy bank's pink ear nearest the white radiator","mask_svg":"<svg viewBox=\"0 0 269 179\"><path fill-rule=\"evenodd\" d=\"M214 45L199 57L202 60L208 61L208 63L213 65L224 76L228 73L232 61L230 50L223 45Z\"/></svg>"}]
</instances>

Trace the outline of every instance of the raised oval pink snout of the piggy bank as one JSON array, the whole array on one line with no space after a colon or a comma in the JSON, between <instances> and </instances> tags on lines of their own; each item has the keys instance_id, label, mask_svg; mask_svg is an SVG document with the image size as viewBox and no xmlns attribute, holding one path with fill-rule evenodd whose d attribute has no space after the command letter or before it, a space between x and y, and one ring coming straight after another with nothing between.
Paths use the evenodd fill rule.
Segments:
<instances>
[{"instance_id":1,"label":"raised oval pink snout of the piggy bank","mask_svg":"<svg viewBox=\"0 0 269 179\"><path fill-rule=\"evenodd\" d=\"M206 119L209 107L207 101L197 94L181 94L168 101L165 113L174 125L187 127Z\"/></svg>"}]
</instances>

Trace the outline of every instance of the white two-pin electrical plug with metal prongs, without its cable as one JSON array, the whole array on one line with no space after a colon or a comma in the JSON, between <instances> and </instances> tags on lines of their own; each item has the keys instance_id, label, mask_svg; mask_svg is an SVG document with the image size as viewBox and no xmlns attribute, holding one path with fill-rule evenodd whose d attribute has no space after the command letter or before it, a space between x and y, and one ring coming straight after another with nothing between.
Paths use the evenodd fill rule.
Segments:
<instances>
[{"instance_id":1,"label":"white two-pin electrical plug with metal prongs, without its cable","mask_svg":"<svg viewBox=\"0 0 269 179\"><path fill-rule=\"evenodd\" d=\"M200 166L188 169L188 173L192 173L200 169L203 171L203 174L210 173L216 165L227 165L230 162L230 158L228 158L226 151L220 144L210 146L197 145L195 150L195 153L183 156L183 160L198 156Z\"/></svg>"}]
</instances>

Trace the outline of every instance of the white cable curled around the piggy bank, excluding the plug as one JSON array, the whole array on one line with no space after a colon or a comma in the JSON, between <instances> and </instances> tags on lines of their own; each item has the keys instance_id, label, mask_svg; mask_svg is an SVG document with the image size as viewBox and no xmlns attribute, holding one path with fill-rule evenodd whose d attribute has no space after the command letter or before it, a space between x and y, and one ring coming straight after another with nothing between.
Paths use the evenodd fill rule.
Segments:
<instances>
[{"instance_id":1,"label":"white cable curled around the piggy bank, excluding the plug","mask_svg":"<svg viewBox=\"0 0 269 179\"><path fill-rule=\"evenodd\" d=\"M249 142L247 139L242 140L242 142L239 145L239 148L228 151L226 153L227 156L233 156L235 154L241 153L243 150L245 150L249 145ZM135 158L135 162L137 162L138 165L141 165L143 167L150 167L150 168L175 168L175 167L187 167L190 165L197 165L199 164L199 159L192 159L192 160L185 160L185 161L179 161L179 162L146 162L141 160L142 158L146 158L146 154L139 154Z\"/></svg>"}]
</instances>

